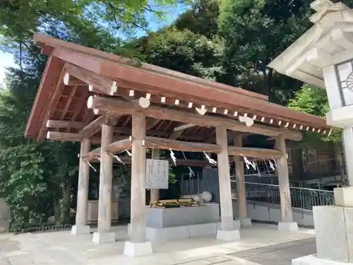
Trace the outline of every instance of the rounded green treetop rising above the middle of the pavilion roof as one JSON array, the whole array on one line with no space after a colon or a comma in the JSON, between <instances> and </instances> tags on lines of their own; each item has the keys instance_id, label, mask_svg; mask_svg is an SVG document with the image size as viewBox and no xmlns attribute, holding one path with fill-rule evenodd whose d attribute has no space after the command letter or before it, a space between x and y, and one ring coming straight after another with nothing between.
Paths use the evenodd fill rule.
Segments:
<instances>
[{"instance_id":1,"label":"rounded green treetop rising above the middle of the pavilion roof","mask_svg":"<svg viewBox=\"0 0 353 265\"><path fill-rule=\"evenodd\" d=\"M223 46L217 37L209 40L191 30L165 28L137 40L135 45L144 54L142 59L150 64L210 80L217 80L223 74L220 65Z\"/></svg>"}]
</instances>

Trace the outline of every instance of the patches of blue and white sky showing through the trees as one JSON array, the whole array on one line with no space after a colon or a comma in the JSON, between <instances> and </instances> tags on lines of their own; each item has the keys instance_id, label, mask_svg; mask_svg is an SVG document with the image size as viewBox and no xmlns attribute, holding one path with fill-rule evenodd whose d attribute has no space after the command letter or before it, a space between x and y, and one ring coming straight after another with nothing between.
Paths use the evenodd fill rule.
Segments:
<instances>
[{"instance_id":1,"label":"patches of blue and white sky showing through the trees","mask_svg":"<svg viewBox=\"0 0 353 265\"><path fill-rule=\"evenodd\" d=\"M168 8L166 12L167 18L165 18L163 21L160 21L157 16L152 15L151 13L146 14L146 18L148 19L150 25L149 29L152 31L159 30L160 28L170 25L174 20L178 18L178 16L181 13L184 13L188 6L184 5L179 5L177 8ZM137 35L142 36L144 35L144 32L140 30L140 32L137 33ZM11 54L4 53L0 51L0 84L4 83L4 78L5 78L5 71L6 67L11 67L11 66L16 66L15 62L13 61L13 57Z\"/></svg>"}]
</instances>

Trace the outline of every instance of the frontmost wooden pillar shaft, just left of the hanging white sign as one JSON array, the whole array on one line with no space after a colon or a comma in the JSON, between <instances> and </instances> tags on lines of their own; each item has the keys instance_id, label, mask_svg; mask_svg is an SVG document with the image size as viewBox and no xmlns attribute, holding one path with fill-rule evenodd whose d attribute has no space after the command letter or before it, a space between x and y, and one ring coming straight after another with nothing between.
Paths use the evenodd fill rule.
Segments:
<instances>
[{"instance_id":1,"label":"frontmost wooden pillar shaft, just left of the hanging white sign","mask_svg":"<svg viewBox=\"0 0 353 265\"><path fill-rule=\"evenodd\" d=\"M146 117L142 112L132 115L132 157L131 157L131 224L130 242L146 241Z\"/></svg>"}]
</instances>

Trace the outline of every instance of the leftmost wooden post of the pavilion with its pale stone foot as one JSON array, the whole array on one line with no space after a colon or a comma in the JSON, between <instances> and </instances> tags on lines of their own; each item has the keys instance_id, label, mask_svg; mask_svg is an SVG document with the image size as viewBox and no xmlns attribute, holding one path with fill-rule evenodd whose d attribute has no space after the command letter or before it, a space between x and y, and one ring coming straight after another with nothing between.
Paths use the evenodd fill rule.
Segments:
<instances>
[{"instance_id":1,"label":"leftmost wooden post of the pavilion with its pale stone foot","mask_svg":"<svg viewBox=\"0 0 353 265\"><path fill-rule=\"evenodd\" d=\"M82 160L83 155L90 152L90 139L83 139L80 148L80 165L78 170L78 189L77 189L77 207L76 224L71 233L73 235L89 234L90 228L87 225L88 208L88 184L90 181L90 166Z\"/></svg>"}]
</instances>

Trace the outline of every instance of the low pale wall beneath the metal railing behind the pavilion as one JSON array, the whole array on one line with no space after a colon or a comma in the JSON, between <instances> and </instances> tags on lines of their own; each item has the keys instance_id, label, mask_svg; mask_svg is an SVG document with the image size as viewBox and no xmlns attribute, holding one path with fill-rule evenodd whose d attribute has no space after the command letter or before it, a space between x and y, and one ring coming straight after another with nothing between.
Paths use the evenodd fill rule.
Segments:
<instances>
[{"instance_id":1,"label":"low pale wall beneath the metal railing behind the pavilion","mask_svg":"<svg viewBox=\"0 0 353 265\"><path fill-rule=\"evenodd\" d=\"M281 221L281 209L278 205L247 201L246 208L251 220L275 223ZM233 200L233 213L234 218L237 218L237 200ZM313 211L294 208L293 219L298 225L313 226Z\"/></svg>"}]
</instances>

